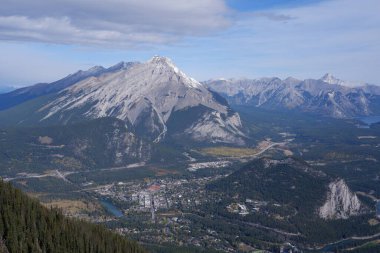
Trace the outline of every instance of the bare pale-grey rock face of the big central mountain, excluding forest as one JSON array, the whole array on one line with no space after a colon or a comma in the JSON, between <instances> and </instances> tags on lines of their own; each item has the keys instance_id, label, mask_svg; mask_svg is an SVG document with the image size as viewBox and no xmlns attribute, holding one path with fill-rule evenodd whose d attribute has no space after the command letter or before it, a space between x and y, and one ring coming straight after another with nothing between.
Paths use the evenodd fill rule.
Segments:
<instances>
[{"instance_id":1,"label":"bare pale-grey rock face of the big central mountain, excluding forest","mask_svg":"<svg viewBox=\"0 0 380 253\"><path fill-rule=\"evenodd\" d=\"M242 143L239 115L165 57L80 81L61 91L40 112L42 121L56 118L64 123L78 112L89 119L116 117L159 142L173 112L197 106L208 111L186 129L195 141Z\"/></svg>"}]
</instances>

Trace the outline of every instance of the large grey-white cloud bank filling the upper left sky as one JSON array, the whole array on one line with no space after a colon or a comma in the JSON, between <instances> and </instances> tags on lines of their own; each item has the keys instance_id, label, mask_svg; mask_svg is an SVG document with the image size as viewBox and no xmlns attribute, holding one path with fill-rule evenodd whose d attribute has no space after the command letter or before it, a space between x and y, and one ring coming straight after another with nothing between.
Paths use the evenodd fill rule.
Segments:
<instances>
[{"instance_id":1,"label":"large grey-white cloud bank filling the upper left sky","mask_svg":"<svg viewBox=\"0 0 380 253\"><path fill-rule=\"evenodd\" d=\"M223 0L3 0L2 40L131 47L229 25Z\"/></svg>"}]
</instances>

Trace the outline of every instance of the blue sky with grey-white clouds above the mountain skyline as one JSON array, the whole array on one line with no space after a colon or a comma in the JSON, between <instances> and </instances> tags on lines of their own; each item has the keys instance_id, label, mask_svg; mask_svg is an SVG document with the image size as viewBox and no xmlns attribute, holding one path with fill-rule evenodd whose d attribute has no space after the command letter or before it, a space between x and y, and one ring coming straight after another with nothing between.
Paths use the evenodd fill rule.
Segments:
<instances>
[{"instance_id":1,"label":"blue sky with grey-white clouds above the mountain skyline","mask_svg":"<svg viewBox=\"0 0 380 253\"><path fill-rule=\"evenodd\" d=\"M0 87L171 58L197 80L380 85L379 0L2 0Z\"/></svg>"}]
</instances>

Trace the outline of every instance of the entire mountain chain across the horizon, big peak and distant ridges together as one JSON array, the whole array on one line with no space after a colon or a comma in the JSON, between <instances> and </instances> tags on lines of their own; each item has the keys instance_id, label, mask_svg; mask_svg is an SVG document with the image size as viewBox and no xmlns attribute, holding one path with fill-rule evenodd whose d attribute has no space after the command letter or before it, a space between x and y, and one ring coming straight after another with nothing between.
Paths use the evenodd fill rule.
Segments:
<instances>
[{"instance_id":1,"label":"entire mountain chain across the horizon, big peak and distant ridges together","mask_svg":"<svg viewBox=\"0 0 380 253\"><path fill-rule=\"evenodd\" d=\"M113 117L146 140L243 145L230 105L297 110L335 118L380 113L380 87L321 79L217 79L200 83L166 57L92 67L52 83L0 94L0 125L67 125ZM219 95L220 94L220 95Z\"/></svg>"}]
</instances>

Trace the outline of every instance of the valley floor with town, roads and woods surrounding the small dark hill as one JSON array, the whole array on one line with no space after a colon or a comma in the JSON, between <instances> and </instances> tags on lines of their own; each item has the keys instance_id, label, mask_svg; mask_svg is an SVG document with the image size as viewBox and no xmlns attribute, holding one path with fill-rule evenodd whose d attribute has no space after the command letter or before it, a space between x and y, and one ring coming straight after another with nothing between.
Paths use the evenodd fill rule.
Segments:
<instances>
[{"instance_id":1,"label":"valley floor with town, roads and woods surrounding the small dark hill","mask_svg":"<svg viewBox=\"0 0 380 253\"><path fill-rule=\"evenodd\" d=\"M46 205L62 208L68 216L103 223L149 245L152 252L156 250L154 245L196 247L195 252L277 252L281 248L284 252L329 252L378 244L378 126L357 128L355 121L279 114L268 117L260 112L240 111L243 118L250 120L247 122L256 140L244 148L192 147L178 151L178 160L135 161L102 168L77 167L75 160L58 157L64 155L59 153L60 148L50 148L56 150L53 158L61 159L64 166L36 170L27 162L12 161L17 170L3 165L1 176ZM8 145L13 139L2 137L0 141ZM41 160L43 152L30 159ZM269 195L257 199L233 195L226 198L208 188L250 160L293 156L329 178L343 178L368 207L367 212L345 221L316 220L308 224L316 226L315 231L307 231L293 220L299 210L281 206ZM292 187L289 182L282 183ZM336 231L331 230L334 226ZM323 230L330 238L309 236Z\"/></svg>"}]
</instances>

